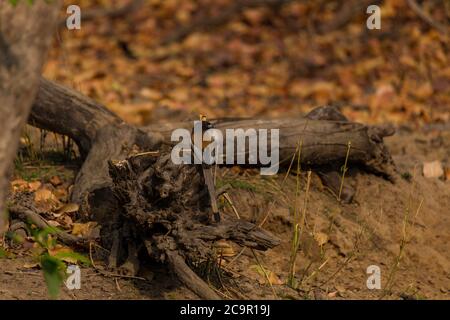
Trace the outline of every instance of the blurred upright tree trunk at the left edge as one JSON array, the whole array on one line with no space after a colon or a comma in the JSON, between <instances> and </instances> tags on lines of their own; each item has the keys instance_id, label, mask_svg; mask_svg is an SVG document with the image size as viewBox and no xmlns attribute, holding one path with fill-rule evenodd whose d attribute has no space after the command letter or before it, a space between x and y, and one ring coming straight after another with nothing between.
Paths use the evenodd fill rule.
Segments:
<instances>
[{"instance_id":1,"label":"blurred upright tree trunk at the left edge","mask_svg":"<svg viewBox=\"0 0 450 320\"><path fill-rule=\"evenodd\" d=\"M18 141L38 89L56 27L59 1L0 2L0 236L7 228L4 200Z\"/></svg>"}]
</instances>

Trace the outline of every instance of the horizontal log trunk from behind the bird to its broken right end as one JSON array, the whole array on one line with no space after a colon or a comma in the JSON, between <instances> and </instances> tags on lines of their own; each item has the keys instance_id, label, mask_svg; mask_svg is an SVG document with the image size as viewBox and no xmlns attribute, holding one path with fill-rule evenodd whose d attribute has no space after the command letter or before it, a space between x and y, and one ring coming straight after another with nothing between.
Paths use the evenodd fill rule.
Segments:
<instances>
[{"instance_id":1,"label":"horizontal log trunk from behind the bird to its broken right end","mask_svg":"<svg viewBox=\"0 0 450 320\"><path fill-rule=\"evenodd\" d=\"M289 164L299 142L302 142L303 164L321 166L341 161L342 165L348 143L351 142L350 162L363 164L367 169L387 178L394 174L391 157L383 144L383 137L393 134L389 127L368 127L347 120L315 119L308 115L303 118L219 119L212 122L224 136L226 129L279 129L281 165ZM170 134L174 129L190 127L192 122L182 122L150 125L143 130L150 136L162 135L165 141L170 141Z\"/></svg>"}]
</instances>

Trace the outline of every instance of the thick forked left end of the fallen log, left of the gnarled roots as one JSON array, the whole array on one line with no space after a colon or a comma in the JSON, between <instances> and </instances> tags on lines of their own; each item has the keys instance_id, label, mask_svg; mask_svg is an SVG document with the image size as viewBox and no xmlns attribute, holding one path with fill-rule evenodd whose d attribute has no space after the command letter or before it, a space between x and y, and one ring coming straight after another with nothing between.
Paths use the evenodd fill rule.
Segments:
<instances>
[{"instance_id":1,"label":"thick forked left end of the fallen log, left of the gnarled roots","mask_svg":"<svg viewBox=\"0 0 450 320\"><path fill-rule=\"evenodd\" d=\"M107 160L125 159L135 144L142 148L155 144L153 137L128 125L106 107L42 78L28 122L66 135L77 143L84 165L72 191L72 200L76 202L81 202L89 192L110 185Z\"/></svg>"}]
</instances>

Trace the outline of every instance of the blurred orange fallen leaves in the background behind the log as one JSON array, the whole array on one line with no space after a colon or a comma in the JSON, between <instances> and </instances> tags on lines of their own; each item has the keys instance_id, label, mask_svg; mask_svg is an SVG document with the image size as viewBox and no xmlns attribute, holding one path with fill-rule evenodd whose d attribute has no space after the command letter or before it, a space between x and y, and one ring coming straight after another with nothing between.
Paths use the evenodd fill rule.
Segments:
<instances>
[{"instance_id":1,"label":"blurred orange fallen leaves in the background behind the log","mask_svg":"<svg viewBox=\"0 0 450 320\"><path fill-rule=\"evenodd\" d=\"M81 30L65 28L70 4L81 7ZM381 30L367 29L368 4L381 7ZM292 116L323 104L367 123L450 120L447 0L65 5L45 76L133 123Z\"/></svg>"}]
</instances>

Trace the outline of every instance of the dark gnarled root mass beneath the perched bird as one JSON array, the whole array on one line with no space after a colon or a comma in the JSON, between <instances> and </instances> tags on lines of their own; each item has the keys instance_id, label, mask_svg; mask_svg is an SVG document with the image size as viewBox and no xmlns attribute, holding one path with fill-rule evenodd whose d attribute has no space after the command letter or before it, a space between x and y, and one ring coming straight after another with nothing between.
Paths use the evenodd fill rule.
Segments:
<instances>
[{"instance_id":1,"label":"dark gnarled root mass beneath the perched bird","mask_svg":"<svg viewBox=\"0 0 450 320\"><path fill-rule=\"evenodd\" d=\"M122 208L121 218L132 226L135 241L144 243L153 259L168 262L198 295L217 298L185 261L216 261L214 242L220 239L258 250L273 248L279 240L233 217L212 222L209 194L200 170L198 166L173 164L169 151L156 157L143 153L109 161L112 191Z\"/></svg>"}]
</instances>

